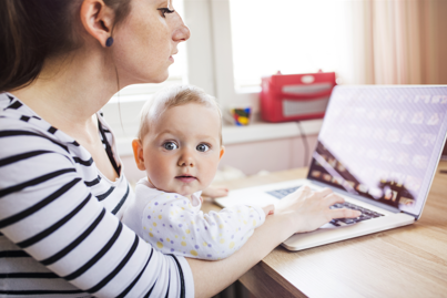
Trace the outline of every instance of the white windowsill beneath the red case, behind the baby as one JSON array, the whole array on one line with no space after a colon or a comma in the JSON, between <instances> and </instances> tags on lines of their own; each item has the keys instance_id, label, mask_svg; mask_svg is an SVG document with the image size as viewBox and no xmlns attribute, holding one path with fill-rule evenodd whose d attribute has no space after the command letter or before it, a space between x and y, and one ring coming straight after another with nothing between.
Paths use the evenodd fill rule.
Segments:
<instances>
[{"instance_id":1,"label":"white windowsill beneath the red case, behind the baby","mask_svg":"<svg viewBox=\"0 0 447 298\"><path fill-rule=\"evenodd\" d=\"M301 121L301 126L305 135L319 133L323 120ZM248 126L223 126L222 136L225 145L243 144L250 142L271 141L277 138L296 137L301 132L296 122L284 123L252 123ZM118 152L121 156L132 155L133 137L121 137L116 141Z\"/></svg>"}]
</instances>

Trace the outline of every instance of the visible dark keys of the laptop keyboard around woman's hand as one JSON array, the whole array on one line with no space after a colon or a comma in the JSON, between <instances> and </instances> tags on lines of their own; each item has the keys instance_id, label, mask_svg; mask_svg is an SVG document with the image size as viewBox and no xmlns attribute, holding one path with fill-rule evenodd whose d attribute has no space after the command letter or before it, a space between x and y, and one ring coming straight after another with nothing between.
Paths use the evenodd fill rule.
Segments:
<instances>
[{"instance_id":1,"label":"visible dark keys of the laptop keyboard around woman's hand","mask_svg":"<svg viewBox=\"0 0 447 298\"><path fill-rule=\"evenodd\" d=\"M271 191L271 192L266 192L267 194L276 197L276 198L283 198L294 192L296 192L296 189L298 189L301 186L295 186L295 187L291 187L291 188L284 188L284 189L276 189L276 191ZM334 226L346 226L346 225L352 225L355 223L359 223L363 220L367 220L367 219L372 219L372 218L376 218L376 217L380 217L384 216L383 214L369 210L367 208L360 207L358 205L355 205L353 203L337 203L335 205L332 205L329 207L331 209L336 209L336 208L348 208L348 209L354 209L354 210L359 210L362 212L362 215L359 217L356 218L334 218L332 219L329 223L333 224Z\"/></svg>"}]
</instances>

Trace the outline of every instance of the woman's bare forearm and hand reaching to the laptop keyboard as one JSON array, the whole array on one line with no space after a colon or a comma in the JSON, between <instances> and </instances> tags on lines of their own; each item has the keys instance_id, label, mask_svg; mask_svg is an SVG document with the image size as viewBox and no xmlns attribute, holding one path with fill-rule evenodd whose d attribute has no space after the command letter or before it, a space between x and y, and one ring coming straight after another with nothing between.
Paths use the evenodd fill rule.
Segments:
<instances>
[{"instance_id":1,"label":"woman's bare forearm and hand reaching to the laptop keyboard","mask_svg":"<svg viewBox=\"0 0 447 298\"><path fill-rule=\"evenodd\" d=\"M351 209L329 209L342 202L344 199L329 189L313 193L308 187L302 187L283 198L275 214L268 216L231 257L219 261L187 259L194 277L195 297L211 297L226 288L293 234L316 229L333 218L359 215Z\"/></svg>"}]
</instances>

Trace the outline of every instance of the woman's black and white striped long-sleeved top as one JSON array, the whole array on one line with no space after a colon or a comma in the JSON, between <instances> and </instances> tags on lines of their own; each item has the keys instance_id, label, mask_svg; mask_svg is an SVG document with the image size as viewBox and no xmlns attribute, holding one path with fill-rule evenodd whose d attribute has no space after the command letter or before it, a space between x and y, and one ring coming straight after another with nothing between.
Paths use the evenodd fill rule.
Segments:
<instances>
[{"instance_id":1,"label":"woman's black and white striped long-sleeved top","mask_svg":"<svg viewBox=\"0 0 447 298\"><path fill-rule=\"evenodd\" d=\"M109 181L72 137L0 93L0 297L193 297L186 260L121 224L132 199L122 174Z\"/></svg>"}]
</instances>

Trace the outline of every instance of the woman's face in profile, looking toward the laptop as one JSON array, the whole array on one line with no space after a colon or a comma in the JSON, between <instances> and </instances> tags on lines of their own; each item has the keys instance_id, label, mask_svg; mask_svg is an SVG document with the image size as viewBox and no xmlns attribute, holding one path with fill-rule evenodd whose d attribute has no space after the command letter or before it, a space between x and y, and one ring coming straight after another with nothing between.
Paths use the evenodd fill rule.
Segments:
<instances>
[{"instance_id":1,"label":"woman's face in profile, looking toward the laptop","mask_svg":"<svg viewBox=\"0 0 447 298\"><path fill-rule=\"evenodd\" d=\"M167 79L177 44L190 38L190 30L172 0L132 0L131 11L118 28L112 47L120 85L160 83Z\"/></svg>"}]
</instances>

